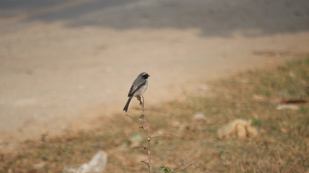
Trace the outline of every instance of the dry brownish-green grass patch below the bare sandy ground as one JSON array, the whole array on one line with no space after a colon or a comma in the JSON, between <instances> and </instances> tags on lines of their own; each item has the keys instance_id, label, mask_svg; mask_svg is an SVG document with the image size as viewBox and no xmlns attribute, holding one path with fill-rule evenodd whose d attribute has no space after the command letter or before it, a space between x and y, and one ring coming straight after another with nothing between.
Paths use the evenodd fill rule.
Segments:
<instances>
[{"instance_id":1,"label":"dry brownish-green grass patch below the bare sandy ground","mask_svg":"<svg viewBox=\"0 0 309 173\"><path fill-rule=\"evenodd\" d=\"M209 83L211 98L146 107L149 133L172 135L151 140L153 172L162 172L161 165L176 169L191 162L187 172L309 171L309 104L276 109L283 99L309 101L309 58ZM204 119L194 120L196 112ZM66 165L89 161L100 149L109 155L105 172L147 172L140 162L147 160L139 147L146 144L144 132L130 118L114 117L101 117L102 127L91 132L25 141L18 154L0 155L0 172L61 172ZM237 118L252 120L260 135L218 138L217 129Z\"/></svg>"}]
</instances>

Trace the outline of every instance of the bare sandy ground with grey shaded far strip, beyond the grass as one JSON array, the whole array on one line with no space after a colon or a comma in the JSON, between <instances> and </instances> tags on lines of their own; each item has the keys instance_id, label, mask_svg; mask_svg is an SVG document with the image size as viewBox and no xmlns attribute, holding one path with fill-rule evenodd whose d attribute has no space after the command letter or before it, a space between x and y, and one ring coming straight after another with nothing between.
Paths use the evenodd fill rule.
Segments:
<instances>
[{"instance_id":1,"label":"bare sandy ground with grey shaded far strip, beyond the grass","mask_svg":"<svg viewBox=\"0 0 309 173\"><path fill-rule=\"evenodd\" d=\"M156 106L304 57L309 1L6 0L0 45L0 148L14 148L122 116L140 72Z\"/></svg>"}]
</instances>

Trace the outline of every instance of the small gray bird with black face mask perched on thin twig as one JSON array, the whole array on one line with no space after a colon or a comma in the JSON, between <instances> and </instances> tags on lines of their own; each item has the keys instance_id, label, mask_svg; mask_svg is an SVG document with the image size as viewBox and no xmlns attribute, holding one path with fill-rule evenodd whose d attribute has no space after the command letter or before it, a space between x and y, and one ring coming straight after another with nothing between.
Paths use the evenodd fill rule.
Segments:
<instances>
[{"instance_id":1,"label":"small gray bird with black face mask perched on thin twig","mask_svg":"<svg viewBox=\"0 0 309 173\"><path fill-rule=\"evenodd\" d=\"M123 108L124 111L128 111L128 108L129 108L129 105L130 105L130 102L131 102L131 99L135 96L139 101L140 101L140 96L142 96L145 91L147 90L147 86L148 86L148 80L147 78L149 77L150 75L148 75L148 73L140 73L136 79L134 80L134 82L132 83L132 86L130 88L130 91L129 91L129 94L128 94L128 97L129 97L129 100L126 104L126 106ZM141 101L140 101L141 103Z\"/></svg>"}]
</instances>

